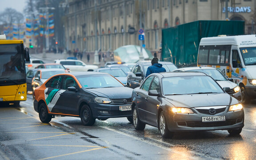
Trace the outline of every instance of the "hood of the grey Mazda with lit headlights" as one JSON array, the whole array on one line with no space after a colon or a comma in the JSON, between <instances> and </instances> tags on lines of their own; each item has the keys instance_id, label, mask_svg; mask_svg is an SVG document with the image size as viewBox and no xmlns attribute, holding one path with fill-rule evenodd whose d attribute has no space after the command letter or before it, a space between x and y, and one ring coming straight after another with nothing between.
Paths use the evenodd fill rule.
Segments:
<instances>
[{"instance_id":1,"label":"hood of the grey Mazda with lit headlights","mask_svg":"<svg viewBox=\"0 0 256 160\"><path fill-rule=\"evenodd\" d=\"M166 96L166 100L175 107L193 108L230 105L232 98L227 93L214 93Z\"/></svg>"}]
</instances>

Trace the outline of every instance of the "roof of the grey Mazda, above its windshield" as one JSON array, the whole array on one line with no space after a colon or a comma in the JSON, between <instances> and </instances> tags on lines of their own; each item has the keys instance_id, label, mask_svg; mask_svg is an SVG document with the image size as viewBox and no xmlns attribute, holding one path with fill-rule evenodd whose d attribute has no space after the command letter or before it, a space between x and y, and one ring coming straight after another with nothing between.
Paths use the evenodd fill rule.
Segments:
<instances>
[{"instance_id":1,"label":"roof of the grey Mazda, above its windshield","mask_svg":"<svg viewBox=\"0 0 256 160\"><path fill-rule=\"evenodd\" d=\"M175 76L208 76L203 72L160 72L152 73L151 75L161 75L162 77L175 77Z\"/></svg>"}]
</instances>

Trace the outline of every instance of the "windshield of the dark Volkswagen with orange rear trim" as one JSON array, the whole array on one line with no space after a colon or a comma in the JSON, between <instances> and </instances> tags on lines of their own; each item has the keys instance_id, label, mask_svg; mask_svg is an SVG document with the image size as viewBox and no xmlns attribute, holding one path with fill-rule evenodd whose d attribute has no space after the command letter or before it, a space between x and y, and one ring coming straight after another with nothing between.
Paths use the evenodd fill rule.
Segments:
<instances>
[{"instance_id":1,"label":"windshield of the dark Volkswagen with orange rear trim","mask_svg":"<svg viewBox=\"0 0 256 160\"><path fill-rule=\"evenodd\" d=\"M83 88L124 87L116 78L110 75L76 76Z\"/></svg>"}]
</instances>

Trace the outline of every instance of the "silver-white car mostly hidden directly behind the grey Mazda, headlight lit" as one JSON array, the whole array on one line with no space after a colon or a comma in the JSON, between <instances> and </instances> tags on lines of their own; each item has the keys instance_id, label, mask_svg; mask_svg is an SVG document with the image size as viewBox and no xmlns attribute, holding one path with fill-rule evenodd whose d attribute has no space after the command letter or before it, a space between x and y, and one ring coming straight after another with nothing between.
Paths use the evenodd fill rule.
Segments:
<instances>
[{"instance_id":1,"label":"silver-white car mostly hidden directly behind the grey Mazda, headlight lit","mask_svg":"<svg viewBox=\"0 0 256 160\"><path fill-rule=\"evenodd\" d=\"M220 87L229 87L230 90L227 91L227 93L230 96L235 97L237 100L242 102L242 94L240 91L240 87L232 82L232 79L227 79L220 71L218 71L216 68L212 67L185 67L185 68L179 68L174 70L174 72L177 71L192 71L192 72L204 72L208 76L211 76L218 84L220 84Z\"/></svg>"}]
</instances>

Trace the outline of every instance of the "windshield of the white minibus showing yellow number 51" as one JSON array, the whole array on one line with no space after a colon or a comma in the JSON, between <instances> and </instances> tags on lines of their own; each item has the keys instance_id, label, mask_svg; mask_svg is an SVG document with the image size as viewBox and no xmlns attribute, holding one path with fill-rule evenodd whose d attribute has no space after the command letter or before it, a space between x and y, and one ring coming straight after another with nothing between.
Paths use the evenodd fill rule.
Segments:
<instances>
[{"instance_id":1,"label":"windshield of the white minibus showing yellow number 51","mask_svg":"<svg viewBox=\"0 0 256 160\"><path fill-rule=\"evenodd\" d=\"M256 65L256 47L240 48L244 65Z\"/></svg>"}]
</instances>

